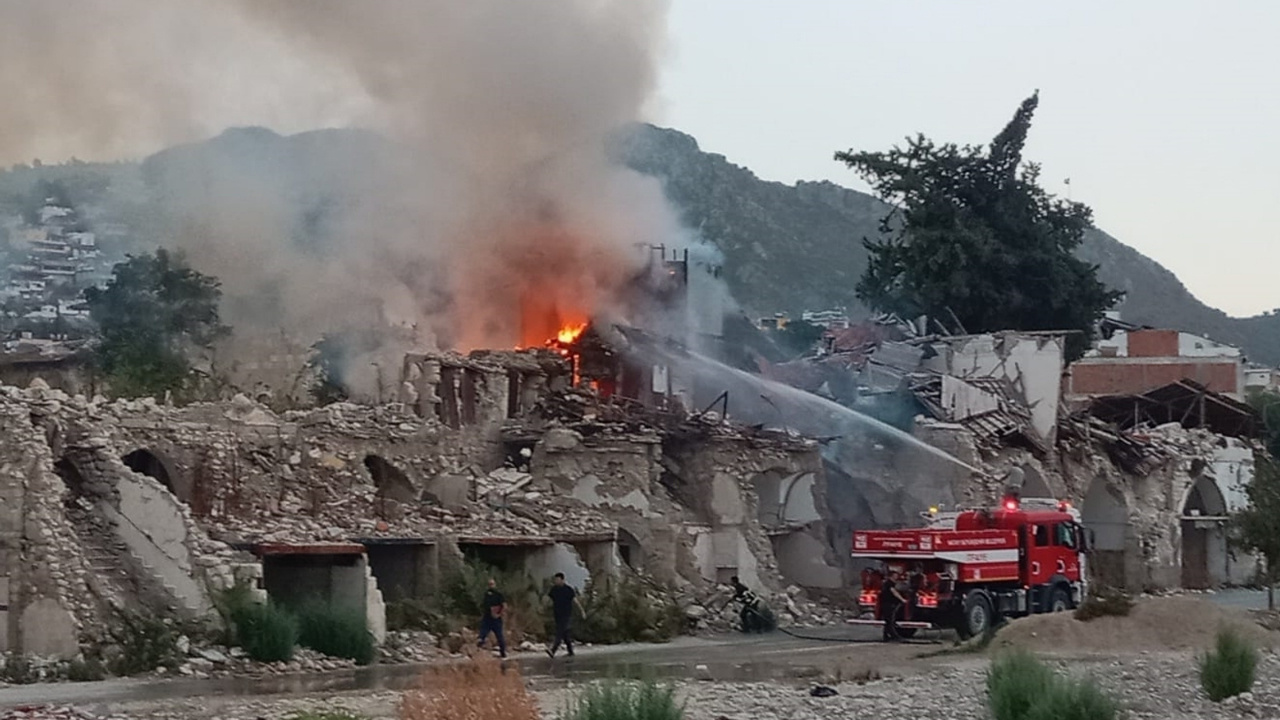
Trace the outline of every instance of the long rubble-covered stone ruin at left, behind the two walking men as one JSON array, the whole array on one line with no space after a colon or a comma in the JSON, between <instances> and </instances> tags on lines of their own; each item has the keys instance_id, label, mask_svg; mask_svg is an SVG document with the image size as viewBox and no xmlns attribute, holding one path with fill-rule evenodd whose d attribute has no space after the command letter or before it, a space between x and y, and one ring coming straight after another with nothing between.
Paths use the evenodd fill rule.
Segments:
<instances>
[{"instance_id":1,"label":"long rubble-covered stone ruin at left, behind the two walking men","mask_svg":"<svg viewBox=\"0 0 1280 720\"><path fill-rule=\"evenodd\" d=\"M653 368L637 393L617 366L613 395L575 387L584 369L413 355L398 402L284 414L0 388L0 652L76 655L115 612L207 615L237 582L380 635L463 557L575 584L630 565L689 596L836 561L774 552L823 533L814 441L690 414Z\"/></svg>"}]
</instances>

